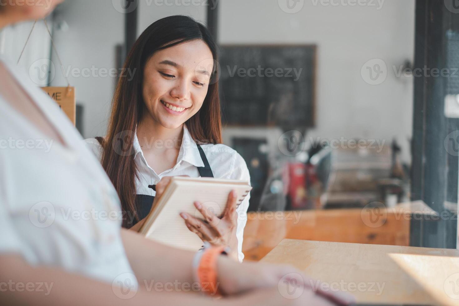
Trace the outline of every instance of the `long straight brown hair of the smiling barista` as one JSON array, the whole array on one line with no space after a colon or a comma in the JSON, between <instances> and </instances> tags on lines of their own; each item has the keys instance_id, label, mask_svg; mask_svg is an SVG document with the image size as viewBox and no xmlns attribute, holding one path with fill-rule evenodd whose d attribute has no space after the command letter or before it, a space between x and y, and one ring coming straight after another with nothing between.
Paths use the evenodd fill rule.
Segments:
<instances>
[{"instance_id":1,"label":"long straight brown hair of the smiling barista","mask_svg":"<svg viewBox=\"0 0 459 306\"><path fill-rule=\"evenodd\" d=\"M129 226L130 217L139 220L135 205L138 169L134 163L133 136L145 111L142 84L146 62L158 50L195 39L204 41L211 50L213 73L201 109L185 123L196 143L221 143L217 44L204 25L187 16L170 16L152 23L126 58L113 96L106 138L98 138L104 148L102 167L112 180L123 207L123 227ZM134 72L132 79L128 78L128 71Z\"/></svg>"}]
</instances>

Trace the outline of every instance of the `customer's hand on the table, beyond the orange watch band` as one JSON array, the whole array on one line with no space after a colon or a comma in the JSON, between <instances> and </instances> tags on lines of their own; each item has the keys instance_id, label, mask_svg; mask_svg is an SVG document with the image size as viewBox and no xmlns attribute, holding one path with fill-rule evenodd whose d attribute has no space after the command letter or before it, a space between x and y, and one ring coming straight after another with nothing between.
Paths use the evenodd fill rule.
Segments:
<instances>
[{"instance_id":1,"label":"customer's hand on the table, beyond the orange watch band","mask_svg":"<svg viewBox=\"0 0 459 306\"><path fill-rule=\"evenodd\" d=\"M308 303L307 301L304 302L302 298L300 299L303 295L314 301L326 299L338 305L349 305L354 303L352 295L332 290L330 286L321 286L320 281L308 278L304 273L290 266L276 266L259 262L237 263L225 256L220 256L218 258L217 273L219 289L224 295L241 294L263 288L275 288L279 290L278 292L280 292L280 295L284 297L285 300L285 303L280 303L278 305L301 304L289 304L290 302L288 300L303 301L302 305L316 305ZM324 290L323 288L329 289ZM326 301L324 301L324 303L326 303ZM267 303L267 305L269 305L269 303Z\"/></svg>"}]
</instances>

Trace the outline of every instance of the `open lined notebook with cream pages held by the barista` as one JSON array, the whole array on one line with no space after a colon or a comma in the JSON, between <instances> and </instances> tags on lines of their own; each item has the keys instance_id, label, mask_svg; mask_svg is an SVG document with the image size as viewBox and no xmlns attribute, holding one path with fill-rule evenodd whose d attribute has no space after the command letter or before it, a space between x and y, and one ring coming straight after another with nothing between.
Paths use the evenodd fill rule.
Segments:
<instances>
[{"instance_id":1,"label":"open lined notebook with cream pages held by the barista","mask_svg":"<svg viewBox=\"0 0 459 306\"><path fill-rule=\"evenodd\" d=\"M191 216L202 218L193 204L199 201L215 216L221 217L233 189L237 194L237 205L240 205L252 187L248 182L239 180L174 177L146 217L139 233L165 245L197 251L202 248L203 242L190 232L179 213L188 212Z\"/></svg>"}]
</instances>

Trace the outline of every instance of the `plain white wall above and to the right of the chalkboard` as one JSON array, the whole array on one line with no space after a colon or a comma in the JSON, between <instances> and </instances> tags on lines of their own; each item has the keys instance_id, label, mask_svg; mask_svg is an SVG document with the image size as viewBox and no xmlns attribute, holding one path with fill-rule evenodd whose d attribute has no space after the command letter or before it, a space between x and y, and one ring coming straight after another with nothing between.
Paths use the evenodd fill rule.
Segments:
<instances>
[{"instance_id":1,"label":"plain white wall above and to the right of the chalkboard","mask_svg":"<svg viewBox=\"0 0 459 306\"><path fill-rule=\"evenodd\" d=\"M333 1L343 2L348 1ZM316 44L317 125L308 136L386 143L395 137L409 161L413 80L397 79L392 65L413 62L414 0L385 0L379 10L320 3L304 0L302 9L291 14L281 10L278 0L221 0L219 43ZM369 85L361 77L364 63L374 58L389 68L380 85Z\"/></svg>"}]
</instances>

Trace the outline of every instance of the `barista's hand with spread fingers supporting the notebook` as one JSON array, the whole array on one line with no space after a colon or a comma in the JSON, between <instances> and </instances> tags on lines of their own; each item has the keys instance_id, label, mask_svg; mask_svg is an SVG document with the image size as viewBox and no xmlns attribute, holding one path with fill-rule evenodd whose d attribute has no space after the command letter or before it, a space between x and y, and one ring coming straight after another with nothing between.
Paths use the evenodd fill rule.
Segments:
<instances>
[{"instance_id":1,"label":"barista's hand with spread fingers supporting the notebook","mask_svg":"<svg viewBox=\"0 0 459 306\"><path fill-rule=\"evenodd\" d=\"M182 212L180 216L185 220L186 227L199 236L202 241L207 241L213 246L229 246L233 255L237 256L237 195L235 190L228 195L226 208L222 217L217 217L212 209L205 204L195 202L197 210L203 219Z\"/></svg>"}]
</instances>

